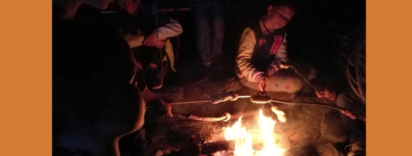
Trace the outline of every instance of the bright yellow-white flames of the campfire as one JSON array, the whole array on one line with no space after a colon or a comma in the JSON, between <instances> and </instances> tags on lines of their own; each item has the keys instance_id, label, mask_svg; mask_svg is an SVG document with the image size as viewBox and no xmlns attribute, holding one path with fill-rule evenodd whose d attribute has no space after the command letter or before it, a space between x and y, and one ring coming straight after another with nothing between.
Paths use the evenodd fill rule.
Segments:
<instances>
[{"instance_id":1,"label":"bright yellow-white flames of the campfire","mask_svg":"<svg viewBox=\"0 0 412 156\"><path fill-rule=\"evenodd\" d=\"M284 151L275 144L273 134L276 121L263 116L262 110L259 110L259 130L253 130L255 133L252 133L242 127L241 120L225 131L226 140L235 140L235 156L282 156ZM260 147L254 149L254 144Z\"/></svg>"}]
</instances>

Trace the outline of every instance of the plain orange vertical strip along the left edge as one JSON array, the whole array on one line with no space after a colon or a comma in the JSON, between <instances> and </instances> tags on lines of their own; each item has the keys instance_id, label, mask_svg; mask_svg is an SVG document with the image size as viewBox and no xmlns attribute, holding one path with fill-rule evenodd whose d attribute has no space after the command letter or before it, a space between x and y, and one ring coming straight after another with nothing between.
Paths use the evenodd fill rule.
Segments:
<instances>
[{"instance_id":1,"label":"plain orange vertical strip along the left edge","mask_svg":"<svg viewBox=\"0 0 412 156\"><path fill-rule=\"evenodd\" d=\"M52 155L51 6L1 1L1 156Z\"/></svg>"}]
</instances>

